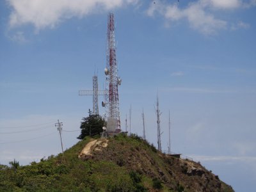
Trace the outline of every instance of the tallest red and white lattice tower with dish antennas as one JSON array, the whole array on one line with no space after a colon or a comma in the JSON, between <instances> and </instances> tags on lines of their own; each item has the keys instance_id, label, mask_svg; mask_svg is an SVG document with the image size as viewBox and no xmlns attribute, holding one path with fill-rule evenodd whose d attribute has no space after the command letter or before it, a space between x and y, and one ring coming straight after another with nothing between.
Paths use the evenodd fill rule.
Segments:
<instances>
[{"instance_id":1,"label":"tallest red and white lattice tower with dish antennas","mask_svg":"<svg viewBox=\"0 0 256 192\"><path fill-rule=\"evenodd\" d=\"M108 116L107 131L120 132L118 86L121 84L121 79L118 77L116 61L115 24L113 13L109 13L108 15L107 62L105 74L106 95L104 106L107 108Z\"/></svg>"}]
</instances>

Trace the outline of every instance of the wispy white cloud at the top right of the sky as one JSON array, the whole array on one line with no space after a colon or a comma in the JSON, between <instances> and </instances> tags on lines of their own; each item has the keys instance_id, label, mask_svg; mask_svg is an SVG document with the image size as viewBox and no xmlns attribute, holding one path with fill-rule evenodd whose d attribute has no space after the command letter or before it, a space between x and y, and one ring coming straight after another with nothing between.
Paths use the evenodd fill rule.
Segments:
<instances>
[{"instance_id":1,"label":"wispy white cloud at the top right of the sky","mask_svg":"<svg viewBox=\"0 0 256 192\"><path fill-rule=\"evenodd\" d=\"M252 6L256 6L256 0L249 2L242 0L198 0L188 3L185 8L180 8L177 3L161 3L161 1L157 1L156 4L150 5L147 15L152 17L158 13L169 23L188 20L189 26L196 31L200 31L204 35L214 35L229 26L226 20L217 18L217 14L220 15L220 12L250 8ZM170 26L170 24L166 24L166 26ZM242 21L230 26L232 30L250 27L249 24Z\"/></svg>"}]
</instances>

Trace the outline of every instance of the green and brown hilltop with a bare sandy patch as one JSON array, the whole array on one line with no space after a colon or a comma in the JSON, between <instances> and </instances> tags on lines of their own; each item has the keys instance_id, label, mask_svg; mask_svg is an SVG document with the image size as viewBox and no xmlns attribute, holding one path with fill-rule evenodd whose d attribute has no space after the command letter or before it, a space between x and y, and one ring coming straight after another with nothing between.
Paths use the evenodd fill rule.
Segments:
<instances>
[{"instance_id":1,"label":"green and brown hilltop with a bare sandy patch","mask_svg":"<svg viewBox=\"0 0 256 192\"><path fill-rule=\"evenodd\" d=\"M0 191L233 191L200 163L170 157L136 135L84 138L28 166L0 166Z\"/></svg>"}]
</instances>

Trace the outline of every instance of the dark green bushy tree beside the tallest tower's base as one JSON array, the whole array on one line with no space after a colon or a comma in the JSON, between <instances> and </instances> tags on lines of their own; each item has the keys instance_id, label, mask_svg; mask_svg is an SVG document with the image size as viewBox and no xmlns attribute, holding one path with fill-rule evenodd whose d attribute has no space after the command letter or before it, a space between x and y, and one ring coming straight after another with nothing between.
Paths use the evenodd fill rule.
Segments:
<instances>
[{"instance_id":1,"label":"dark green bushy tree beside the tallest tower's base","mask_svg":"<svg viewBox=\"0 0 256 192\"><path fill-rule=\"evenodd\" d=\"M100 115L89 115L83 118L80 129L81 134L77 137L79 140L83 140L85 136L97 136L102 132L102 127L105 125L105 120Z\"/></svg>"}]
</instances>

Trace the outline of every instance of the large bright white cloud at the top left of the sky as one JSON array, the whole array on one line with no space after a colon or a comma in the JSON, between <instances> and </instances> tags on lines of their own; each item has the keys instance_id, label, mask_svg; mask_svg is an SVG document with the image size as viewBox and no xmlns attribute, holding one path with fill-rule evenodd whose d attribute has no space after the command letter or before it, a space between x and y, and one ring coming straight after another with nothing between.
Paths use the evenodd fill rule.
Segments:
<instances>
[{"instance_id":1,"label":"large bright white cloud at the top left of the sky","mask_svg":"<svg viewBox=\"0 0 256 192\"><path fill-rule=\"evenodd\" d=\"M136 4L138 0L6 0L12 7L10 26L33 24L36 29L54 28L62 20L84 17Z\"/></svg>"}]
</instances>

